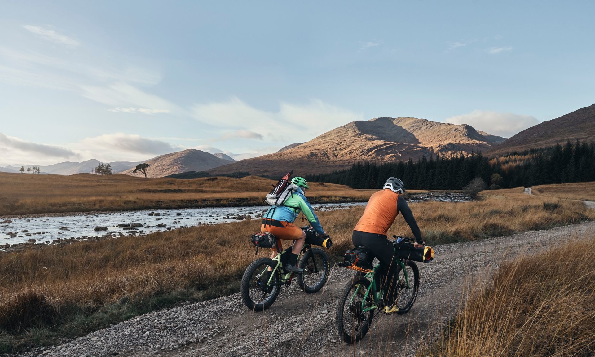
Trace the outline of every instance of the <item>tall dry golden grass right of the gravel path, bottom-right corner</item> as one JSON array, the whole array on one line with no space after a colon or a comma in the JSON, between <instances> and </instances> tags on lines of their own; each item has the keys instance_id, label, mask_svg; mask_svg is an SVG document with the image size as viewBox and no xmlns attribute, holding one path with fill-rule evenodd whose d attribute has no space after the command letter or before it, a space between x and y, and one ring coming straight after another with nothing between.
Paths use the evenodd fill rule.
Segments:
<instances>
[{"instance_id":1,"label":"tall dry golden grass right of the gravel path, bottom-right corner","mask_svg":"<svg viewBox=\"0 0 595 357\"><path fill-rule=\"evenodd\" d=\"M500 265L418 356L595 355L595 236Z\"/></svg>"}]
</instances>

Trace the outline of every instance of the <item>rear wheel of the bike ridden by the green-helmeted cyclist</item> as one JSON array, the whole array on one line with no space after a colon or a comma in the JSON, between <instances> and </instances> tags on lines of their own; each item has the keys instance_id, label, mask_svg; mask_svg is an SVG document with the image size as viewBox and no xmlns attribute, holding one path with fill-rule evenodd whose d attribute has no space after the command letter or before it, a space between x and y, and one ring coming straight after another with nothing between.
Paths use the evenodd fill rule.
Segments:
<instances>
[{"instance_id":1,"label":"rear wheel of the bike ridden by the green-helmeted cyclist","mask_svg":"<svg viewBox=\"0 0 595 357\"><path fill-rule=\"evenodd\" d=\"M273 259L259 258L246 268L240 290L242 299L250 310L266 310L277 299L281 289L281 275L278 270L275 270L276 265ZM273 271L268 271L269 267ZM272 278L270 278L271 274Z\"/></svg>"}]
</instances>

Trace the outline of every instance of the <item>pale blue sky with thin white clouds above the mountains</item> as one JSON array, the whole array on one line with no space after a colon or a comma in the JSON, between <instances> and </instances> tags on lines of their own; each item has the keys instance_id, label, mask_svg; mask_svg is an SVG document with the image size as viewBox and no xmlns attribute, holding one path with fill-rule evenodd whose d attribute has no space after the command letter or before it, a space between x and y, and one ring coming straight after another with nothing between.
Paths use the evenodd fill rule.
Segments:
<instances>
[{"instance_id":1,"label":"pale blue sky with thin white clouds above the mountains","mask_svg":"<svg viewBox=\"0 0 595 357\"><path fill-rule=\"evenodd\" d=\"M595 102L593 1L0 0L0 166L236 159L354 120L509 137Z\"/></svg>"}]
</instances>

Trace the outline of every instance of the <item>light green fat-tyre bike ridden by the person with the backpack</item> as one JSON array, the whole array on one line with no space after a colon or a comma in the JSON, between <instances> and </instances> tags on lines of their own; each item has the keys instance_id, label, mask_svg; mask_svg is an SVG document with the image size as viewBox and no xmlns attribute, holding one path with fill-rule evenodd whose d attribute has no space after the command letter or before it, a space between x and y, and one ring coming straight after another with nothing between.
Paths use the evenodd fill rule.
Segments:
<instances>
[{"instance_id":1,"label":"light green fat-tyre bike ridden by the person with the backpack","mask_svg":"<svg viewBox=\"0 0 595 357\"><path fill-rule=\"evenodd\" d=\"M302 227L302 230L306 232L306 236L313 234L308 226ZM296 274L285 269L292 248L293 245L285 250L277 248L275 258L258 258L248 265L242 276L240 291L245 305L250 310L268 309L277 299L281 286L289 286L296 275L297 284L306 293L318 292L327 282L330 274L330 259L324 250L312 248L312 244L308 243L306 238L297 263L297 266L303 269L303 273ZM330 245L327 248L330 248ZM268 270L269 268L271 271Z\"/></svg>"}]
</instances>

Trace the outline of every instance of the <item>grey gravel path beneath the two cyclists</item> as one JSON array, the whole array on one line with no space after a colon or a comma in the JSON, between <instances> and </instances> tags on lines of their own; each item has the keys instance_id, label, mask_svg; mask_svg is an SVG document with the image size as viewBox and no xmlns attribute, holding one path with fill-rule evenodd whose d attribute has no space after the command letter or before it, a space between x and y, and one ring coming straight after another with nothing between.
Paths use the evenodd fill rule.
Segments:
<instances>
[{"instance_id":1,"label":"grey gravel path beneath the two cyclists","mask_svg":"<svg viewBox=\"0 0 595 357\"><path fill-rule=\"evenodd\" d=\"M595 233L595 222L513 236L435 246L436 259L421 264L421 287L408 314L374 317L364 340L347 345L336 331L336 301L353 271L334 267L321 292L283 287L268 311L253 313L238 294L183 303L105 330L22 356L413 356L453 317L470 277L485 277L500 259L536 252L551 243Z\"/></svg>"}]
</instances>

